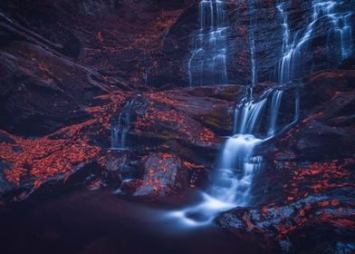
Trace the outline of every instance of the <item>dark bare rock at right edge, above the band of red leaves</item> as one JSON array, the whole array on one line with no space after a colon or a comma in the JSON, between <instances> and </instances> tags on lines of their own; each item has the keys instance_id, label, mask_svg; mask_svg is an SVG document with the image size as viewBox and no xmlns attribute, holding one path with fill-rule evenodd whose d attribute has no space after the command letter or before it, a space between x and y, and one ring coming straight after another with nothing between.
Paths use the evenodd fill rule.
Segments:
<instances>
[{"instance_id":1,"label":"dark bare rock at right edge, above the band of red leaves","mask_svg":"<svg viewBox=\"0 0 355 254\"><path fill-rule=\"evenodd\" d=\"M296 154L297 158L317 160L352 156L355 140L353 113L354 71L323 71L306 77L301 90L304 119L276 144L277 151ZM276 152L277 153L277 152Z\"/></svg>"}]
</instances>

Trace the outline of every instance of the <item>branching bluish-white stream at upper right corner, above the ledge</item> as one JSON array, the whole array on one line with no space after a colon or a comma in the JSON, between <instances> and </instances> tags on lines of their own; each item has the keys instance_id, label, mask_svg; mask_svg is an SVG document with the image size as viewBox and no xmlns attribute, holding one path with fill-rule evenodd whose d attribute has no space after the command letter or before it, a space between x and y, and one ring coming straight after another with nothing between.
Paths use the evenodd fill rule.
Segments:
<instances>
[{"instance_id":1,"label":"branching bluish-white stream at upper right corner, above the ledge","mask_svg":"<svg viewBox=\"0 0 355 254\"><path fill-rule=\"evenodd\" d=\"M279 64L279 83L287 83L294 78L299 78L302 73L302 55L308 50L312 38L316 35L317 24L330 26L328 29L327 48L330 54L338 51L339 62L350 56L352 52L352 32L350 27L351 12L339 12L342 2L329 0L312 1L312 17L310 23L304 29L301 36L296 33L291 38L288 23L287 6L285 3L277 5L277 9L283 19L283 46L282 58ZM312 70L312 68L310 68Z\"/></svg>"}]
</instances>

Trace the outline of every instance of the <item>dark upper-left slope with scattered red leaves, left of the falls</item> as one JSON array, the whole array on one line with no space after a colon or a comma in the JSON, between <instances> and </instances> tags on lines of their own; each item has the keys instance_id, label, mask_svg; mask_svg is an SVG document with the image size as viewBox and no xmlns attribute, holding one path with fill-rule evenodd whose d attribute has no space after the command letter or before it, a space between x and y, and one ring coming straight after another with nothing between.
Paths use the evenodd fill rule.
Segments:
<instances>
[{"instance_id":1,"label":"dark upper-left slope with scattered red leaves, left of the falls","mask_svg":"<svg viewBox=\"0 0 355 254\"><path fill-rule=\"evenodd\" d=\"M2 1L1 44L34 35L77 64L143 86L146 67L156 61L150 55L190 2Z\"/></svg>"}]
</instances>

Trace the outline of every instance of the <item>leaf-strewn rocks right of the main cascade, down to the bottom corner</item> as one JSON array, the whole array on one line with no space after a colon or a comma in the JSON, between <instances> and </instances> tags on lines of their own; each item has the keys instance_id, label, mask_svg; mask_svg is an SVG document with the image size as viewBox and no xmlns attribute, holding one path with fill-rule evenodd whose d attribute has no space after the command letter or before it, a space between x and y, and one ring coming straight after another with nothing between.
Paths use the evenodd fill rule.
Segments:
<instances>
[{"instance_id":1,"label":"leaf-strewn rocks right of the main cascade, down to the bottom corner","mask_svg":"<svg viewBox=\"0 0 355 254\"><path fill-rule=\"evenodd\" d=\"M220 225L274 252L347 248L354 234L354 77L327 70L303 79L301 120L263 146L267 161L254 176L254 207L223 213Z\"/></svg>"}]
</instances>

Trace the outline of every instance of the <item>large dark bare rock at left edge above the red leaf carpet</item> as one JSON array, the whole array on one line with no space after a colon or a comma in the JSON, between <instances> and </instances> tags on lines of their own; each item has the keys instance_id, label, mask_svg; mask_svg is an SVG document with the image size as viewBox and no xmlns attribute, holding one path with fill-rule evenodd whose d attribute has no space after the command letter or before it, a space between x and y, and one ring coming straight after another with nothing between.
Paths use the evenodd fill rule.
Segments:
<instances>
[{"instance_id":1,"label":"large dark bare rock at left edge above the red leaf carpet","mask_svg":"<svg viewBox=\"0 0 355 254\"><path fill-rule=\"evenodd\" d=\"M0 126L6 131L43 135L82 122L89 118L85 107L101 103L93 97L107 91L90 70L40 46L13 42L0 55Z\"/></svg>"}]
</instances>

